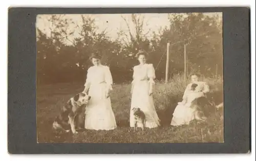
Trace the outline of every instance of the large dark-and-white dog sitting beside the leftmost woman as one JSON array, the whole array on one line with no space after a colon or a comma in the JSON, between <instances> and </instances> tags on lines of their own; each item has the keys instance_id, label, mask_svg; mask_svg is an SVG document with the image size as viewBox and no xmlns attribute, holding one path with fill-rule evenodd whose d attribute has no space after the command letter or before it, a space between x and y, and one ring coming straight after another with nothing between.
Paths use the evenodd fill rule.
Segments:
<instances>
[{"instance_id":1,"label":"large dark-and-white dog sitting beside the leftmost woman","mask_svg":"<svg viewBox=\"0 0 256 161\"><path fill-rule=\"evenodd\" d=\"M76 131L76 117L81 114L84 105L88 104L91 99L86 93L79 93L69 99L69 101L61 108L60 114L53 122L54 129L62 129L69 132L70 129L73 133Z\"/></svg>"}]
</instances>

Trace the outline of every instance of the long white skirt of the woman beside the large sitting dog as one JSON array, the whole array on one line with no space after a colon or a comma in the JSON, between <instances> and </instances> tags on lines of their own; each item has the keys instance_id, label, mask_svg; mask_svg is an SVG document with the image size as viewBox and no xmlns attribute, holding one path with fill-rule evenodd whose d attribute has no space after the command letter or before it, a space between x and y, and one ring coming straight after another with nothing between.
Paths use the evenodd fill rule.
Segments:
<instances>
[{"instance_id":1,"label":"long white skirt of the woman beside the large sitting dog","mask_svg":"<svg viewBox=\"0 0 256 161\"><path fill-rule=\"evenodd\" d=\"M91 84L84 127L91 130L113 130L117 127L110 97L106 98L106 84Z\"/></svg>"}]
</instances>

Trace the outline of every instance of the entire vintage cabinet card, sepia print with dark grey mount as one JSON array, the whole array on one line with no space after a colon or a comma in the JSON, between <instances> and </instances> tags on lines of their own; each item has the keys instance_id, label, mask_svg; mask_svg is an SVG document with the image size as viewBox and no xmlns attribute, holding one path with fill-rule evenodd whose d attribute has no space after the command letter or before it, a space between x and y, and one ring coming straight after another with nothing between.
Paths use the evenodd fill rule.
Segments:
<instances>
[{"instance_id":1,"label":"entire vintage cabinet card, sepia print with dark grey mount","mask_svg":"<svg viewBox=\"0 0 256 161\"><path fill-rule=\"evenodd\" d=\"M9 9L9 152L248 153L248 13Z\"/></svg>"}]
</instances>

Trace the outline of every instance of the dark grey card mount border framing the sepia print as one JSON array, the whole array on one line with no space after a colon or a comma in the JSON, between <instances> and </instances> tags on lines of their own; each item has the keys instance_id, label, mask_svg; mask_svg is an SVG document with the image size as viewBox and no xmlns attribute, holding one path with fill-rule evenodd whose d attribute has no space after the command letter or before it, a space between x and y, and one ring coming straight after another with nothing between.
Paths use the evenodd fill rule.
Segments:
<instances>
[{"instance_id":1,"label":"dark grey card mount border framing the sepia print","mask_svg":"<svg viewBox=\"0 0 256 161\"><path fill-rule=\"evenodd\" d=\"M38 14L223 13L224 143L37 143L36 16ZM8 152L10 154L250 153L249 7L9 8Z\"/></svg>"}]
</instances>

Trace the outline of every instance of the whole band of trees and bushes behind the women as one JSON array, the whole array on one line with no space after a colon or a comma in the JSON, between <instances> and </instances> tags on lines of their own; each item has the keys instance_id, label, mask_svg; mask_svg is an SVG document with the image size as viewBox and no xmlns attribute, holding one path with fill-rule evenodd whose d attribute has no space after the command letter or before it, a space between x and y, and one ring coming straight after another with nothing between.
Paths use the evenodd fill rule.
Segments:
<instances>
[{"instance_id":1,"label":"whole band of trees and bushes behind the women","mask_svg":"<svg viewBox=\"0 0 256 161\"><path fill-rule=\"evenodd\" d=\"M114 82L132 79L132 67L138 62L134 55L143 50L148 62L156 68L157 79L164 79L166 44L170 43L170 77L184 71L184 44L186 44L189 72L199 71L205 76L222 75L222 21L218 16L202 13L169 14L169 25L154 31L144 31L145 19L131 14L132 24L123 18L128 32L120 31L116 40L106 31L97 32L95 19L81 15L81 24L75 28L65 15L51 15L50 34L37 28L37 83L84 81L91 62L91 53L102 55L102 63L111 68ZM131 26L134 28L131 30ZM73 30L71 30L73 29ZM74 39L74 35L79 31ZM218 68L217 68L218 66Z\"/></svg>"}]
</instances>

